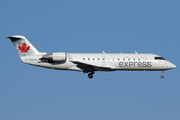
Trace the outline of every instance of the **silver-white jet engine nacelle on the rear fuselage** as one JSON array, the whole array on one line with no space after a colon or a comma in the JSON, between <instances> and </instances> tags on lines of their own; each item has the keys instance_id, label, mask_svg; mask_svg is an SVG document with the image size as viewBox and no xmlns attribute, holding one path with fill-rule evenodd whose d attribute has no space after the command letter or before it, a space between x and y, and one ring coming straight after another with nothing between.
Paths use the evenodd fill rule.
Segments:
<instances>
[{"instance_id":1,"label":"silver-white jet engine nacelle on the rear fuselage","mask_svg":"<svg viewBox=\"0 0 180 120\"><path fill-rule=\"evenodd\" d=\"M58 62L58 61L65 61L67 59L67 56L65 52L57 52L57 53L43 55L42 58L54 62L56 61Z\"/></svg>"}]
</instances>

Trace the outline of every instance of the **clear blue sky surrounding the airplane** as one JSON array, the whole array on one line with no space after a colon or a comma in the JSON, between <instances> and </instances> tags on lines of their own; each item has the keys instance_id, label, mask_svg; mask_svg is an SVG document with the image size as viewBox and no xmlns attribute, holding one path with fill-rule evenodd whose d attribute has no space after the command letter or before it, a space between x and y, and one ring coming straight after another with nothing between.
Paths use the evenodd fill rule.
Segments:
<instances>
[{"instance_id":1,"label":"clear blue sky surrounding the airplane","mask_svg":"<svg viewBox=\"0 0 180 120\"><path fill-rule=\"evenodd\" d=\"M0 120L179 120L179 0L0 0ZM40 52L154 53L177 68L82 72L20 61L6 36Z\"/></svg>"}]
</instances>

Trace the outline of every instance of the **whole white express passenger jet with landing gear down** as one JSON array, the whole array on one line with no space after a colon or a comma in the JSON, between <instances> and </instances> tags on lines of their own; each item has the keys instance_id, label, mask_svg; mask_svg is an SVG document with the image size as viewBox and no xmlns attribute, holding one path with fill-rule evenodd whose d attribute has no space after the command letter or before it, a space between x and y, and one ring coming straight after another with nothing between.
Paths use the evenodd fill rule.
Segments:
<instances>
[{"instance_id":1,"label":"whole white express passenger jet with landing gear down","mask_svg":"<svg viewBox=\"0 0 180 120\"><path fill-rule=\"evenodd\" d=\"M156 54L39 52L24 36L8 36L23 63L57 70L82 71L93 78L96 71L164 71L176 68Z\"/></svg>"}]
</instances>

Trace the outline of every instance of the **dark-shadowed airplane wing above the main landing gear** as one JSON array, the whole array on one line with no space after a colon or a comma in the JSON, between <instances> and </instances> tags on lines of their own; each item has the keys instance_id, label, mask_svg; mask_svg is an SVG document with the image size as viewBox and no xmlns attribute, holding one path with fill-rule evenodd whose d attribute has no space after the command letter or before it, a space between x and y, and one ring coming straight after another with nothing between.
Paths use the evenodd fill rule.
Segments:
<instances>
[{"instance_id":1,"label":"dark-shadowed airplane wing above the main landing gear","mask_svg":"<svg viewBox=\"0 0 180 120\"><path fill-rule=\"evenodd\" d=\"M83 63L79 61L71 61L74 64L76 64L76 67L82 69L84 73L93 72L93 71L113 71L111 66L101 66L98 64L92 64L92 63Z\"/></svg>"}]
</instances>

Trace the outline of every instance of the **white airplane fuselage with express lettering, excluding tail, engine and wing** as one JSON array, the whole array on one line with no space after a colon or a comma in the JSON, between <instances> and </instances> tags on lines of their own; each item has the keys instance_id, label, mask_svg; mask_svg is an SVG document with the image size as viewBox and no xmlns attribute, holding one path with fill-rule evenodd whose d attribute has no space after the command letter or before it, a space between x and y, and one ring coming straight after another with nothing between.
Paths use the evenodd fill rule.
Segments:
<instances>
[{"instance_id":1,"label":"white airplane fuselage with express lettering, excluding tail, engine and wing","mask_svg":"<svg viewBox=\"0 0 180 120\"><path fill-rule=\"evenodd\" d=\"M176 66L165 59L155 59L160 57L155 54L110 54L110 53L66 53L67 60L61 62L42 62L39 59L44 53L20 57L24 63L59 70L83 71L72 61L78 61L87 65L97 66L96 71L115 70L146 70L158 71L168 70ZM108 69L106 69L108 68Z\"/></svg>"}]
</instances>

